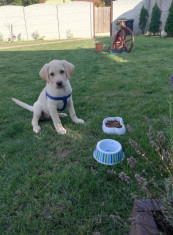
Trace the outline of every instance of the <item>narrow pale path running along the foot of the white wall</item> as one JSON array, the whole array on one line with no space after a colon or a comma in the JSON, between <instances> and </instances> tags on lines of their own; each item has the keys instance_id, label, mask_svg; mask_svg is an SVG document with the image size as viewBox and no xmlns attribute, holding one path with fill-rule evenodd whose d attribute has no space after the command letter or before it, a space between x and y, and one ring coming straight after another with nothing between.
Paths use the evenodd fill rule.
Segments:
<instances>
[{"instance_id":1,"label":"narrow pale path running along the foot of the white wall","mask_svg":"<svg viewBox=\"0 0 173 235\"><path fill-rule=\"evenodd\" d=\"M13 49L17 47L31 47L31 46L58 44L58 43L63 43L63 42L75 42L75 41L83 41L83 40L89 40L89 39L91 38L78 38L78 39L72 39L72 40L60 40L60 41L55 41L55 42L43 42L43 43L32 43L32 44L24 44L24 45L4 46L4 47L0 47L0 50Z\"/></svg>"}]
</instances>

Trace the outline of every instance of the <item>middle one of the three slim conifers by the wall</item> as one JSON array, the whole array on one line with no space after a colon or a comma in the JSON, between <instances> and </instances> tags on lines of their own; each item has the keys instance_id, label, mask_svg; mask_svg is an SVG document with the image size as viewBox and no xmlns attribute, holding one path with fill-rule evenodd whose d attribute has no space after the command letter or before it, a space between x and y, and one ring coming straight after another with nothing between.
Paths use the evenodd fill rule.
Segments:
<instances>
[{"instance_id":1,"label":"middle one of the three slim conifers by the wall","mask_svg":"<svg viewBox=\"0 0 173 235\"><path fill-rule=\"evenodd\" d=\"M160 28L160 16L161 16L161 12L160 12L160 8L158 7L157 3L154 5L153 10L152 10L152 14L151 14L151 22L149 25L149 31L154 33L159 32L159 28Z\"/></svg>"}]
</instances>

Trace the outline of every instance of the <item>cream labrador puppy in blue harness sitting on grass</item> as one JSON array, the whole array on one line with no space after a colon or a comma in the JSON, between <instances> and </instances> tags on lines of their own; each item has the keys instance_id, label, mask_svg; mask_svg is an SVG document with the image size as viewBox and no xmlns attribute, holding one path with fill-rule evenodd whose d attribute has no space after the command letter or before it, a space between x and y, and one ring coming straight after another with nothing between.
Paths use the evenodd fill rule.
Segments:
<instances>
[{"instance_id":1,"label":"cream labrador puppy in blue harness sitting on grass","mask_svg":"<svg viewBox=\"0 0 173 235\"><path fill-rule=\"evenodd\" d=\"M74 65L71 63L65 60L53 60L45 64L39 73L46 81L46 86L33 106L12 98L16 104L33 112L32 126L35 133L40 131L38 121L41 118L51 117L56 131L59 134L65 134L66 129L63 128L59 117L67 115L58 112L64 110L66 106L73 122L84 124L82 119L77 118L73 106L72 88L69 82L73 71Z\"/></svg>"}]
</instances>

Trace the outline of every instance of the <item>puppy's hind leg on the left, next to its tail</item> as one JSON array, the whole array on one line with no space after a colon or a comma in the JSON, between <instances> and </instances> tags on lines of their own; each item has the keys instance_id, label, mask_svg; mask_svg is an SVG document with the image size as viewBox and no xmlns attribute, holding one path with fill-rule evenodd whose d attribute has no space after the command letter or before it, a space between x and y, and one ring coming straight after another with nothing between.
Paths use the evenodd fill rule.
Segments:
<instances>
[{"instance_id":1,"label":"puppy's hind leg on the left, next to its tail","mask_svg":"<svg viewBox=\"0 0 173 235\"><path fill-rule=\"evenodd\" d=\"M39 104L39 102L35 102L34 105L33 105L33 108L34 108L33 119L32 119L33 131L35 133L39 133L41 128L38 125L38 121L39 121L41 113L42 113L42 107Z\"/></svg>"}]
</instances>

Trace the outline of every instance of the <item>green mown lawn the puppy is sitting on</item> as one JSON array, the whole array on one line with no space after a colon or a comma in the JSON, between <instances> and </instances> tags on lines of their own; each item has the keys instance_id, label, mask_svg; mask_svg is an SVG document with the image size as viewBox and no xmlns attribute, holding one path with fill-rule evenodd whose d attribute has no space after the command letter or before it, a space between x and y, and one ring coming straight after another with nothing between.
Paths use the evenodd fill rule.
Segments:
<instances>
[{"instance_id":1,"label":"green mown lawn the puppy is sitting on","mask_svg":"<svg viewBox=\"0 0 173 235\"><path fill-rule=\"evenodd\" d=\"M128 228L110 215L129 218L130 194L141 198L145 194L135 183L122 183L118 174L131 175L126 159L134 156L136 172L145 169L152 176L152 166L135 153L129 138L157 164L144 115L156 131L168 136L163 118L169 118L173 40L136 36L132 52L122 55L107 52L112 38L103 42L100 54L94 40L0 51L0 234L128 234ZM68 116L62 119L67 134L58 135L51 120L42 121L41 132L35 134L32 113L11 97L33 104L45 86L39 71L53 59L75 65L73 101L86 123L74 124ZM102 121L110 116L122 117L134 132L103 133ZM104 138L122 144L126 156L122 163L104 166L95 161L93 150Z\"/></svg>"}]
</instances>

